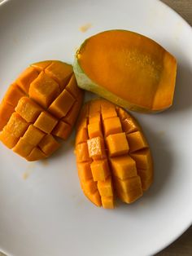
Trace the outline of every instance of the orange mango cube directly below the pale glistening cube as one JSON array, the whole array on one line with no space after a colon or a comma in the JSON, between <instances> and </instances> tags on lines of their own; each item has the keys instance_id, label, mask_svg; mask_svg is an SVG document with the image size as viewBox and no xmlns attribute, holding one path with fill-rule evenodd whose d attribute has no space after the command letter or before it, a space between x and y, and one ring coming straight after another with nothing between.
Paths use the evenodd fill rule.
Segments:
<instances>
[{"instance_id":1,"label":"orange mango cube directly below the pale glistening cube","mask_svg":"<svg viewBox=\"0 0 192 256\"><path fill-rule=\"evenodd\" d=\"M106 180L110 174L107 159L95 160L90 164L94 181Z\"/></svg>"}]
</instances>

